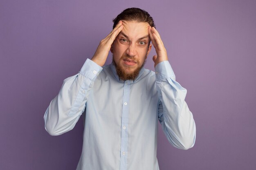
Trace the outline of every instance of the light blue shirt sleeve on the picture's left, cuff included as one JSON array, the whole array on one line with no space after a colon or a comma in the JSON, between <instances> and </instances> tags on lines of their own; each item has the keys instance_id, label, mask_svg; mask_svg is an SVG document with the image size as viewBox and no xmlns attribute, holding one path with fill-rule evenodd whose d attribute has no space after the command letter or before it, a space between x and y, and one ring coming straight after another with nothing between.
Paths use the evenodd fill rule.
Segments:
<instances>
[{"instance_id":1,"label":"light blue shirt sleeve on the picture's left, cuff included","mask_svg":"<svg viewBox=\"0 0 256 170\"><path fill-rule=\"evenodd\" d=\"M78 74L63 81L58 95L52 99L44 115L45 130L50 135L61 135L74 128L101 70L101 66L87 59Z\"/></svg>"}]
</instances>

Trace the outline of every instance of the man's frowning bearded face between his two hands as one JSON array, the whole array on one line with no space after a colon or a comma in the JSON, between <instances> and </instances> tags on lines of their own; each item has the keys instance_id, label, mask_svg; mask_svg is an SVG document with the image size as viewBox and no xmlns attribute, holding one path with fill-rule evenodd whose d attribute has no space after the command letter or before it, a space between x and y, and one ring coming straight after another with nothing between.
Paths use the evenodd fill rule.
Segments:
<instances>
[{"instance_id":1,"label":"man's frowning bearded face between his two hands","mask_svg":"<svg viewBox=\"0 0 256 170\"><path fill-rule=\"evenodd\" d=\"M124 28L117 35L110 51L119 78L135 79L151 50L147 22L122 20Z\"/></svg>"}]
</instances>

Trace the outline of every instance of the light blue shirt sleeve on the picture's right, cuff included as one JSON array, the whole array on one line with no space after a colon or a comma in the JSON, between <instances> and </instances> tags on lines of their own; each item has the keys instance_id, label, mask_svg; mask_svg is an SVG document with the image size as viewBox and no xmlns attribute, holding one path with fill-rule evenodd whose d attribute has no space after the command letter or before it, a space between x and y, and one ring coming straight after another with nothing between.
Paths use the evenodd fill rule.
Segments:
<instances>
[{"instance_id":1,"label":"light blue shirt sleeve on the picture's right, cuff included","mask_svg":"<svg viewBox=\"0 0 256 170\"><path fill-rule=\"evenodd\" d=\"M195 121L185 102L186 89L175 81L168 61L155 67L159 93L158 118L168 141L176 148L187 150L195 144Z\"/></svg>"}]
</instances>

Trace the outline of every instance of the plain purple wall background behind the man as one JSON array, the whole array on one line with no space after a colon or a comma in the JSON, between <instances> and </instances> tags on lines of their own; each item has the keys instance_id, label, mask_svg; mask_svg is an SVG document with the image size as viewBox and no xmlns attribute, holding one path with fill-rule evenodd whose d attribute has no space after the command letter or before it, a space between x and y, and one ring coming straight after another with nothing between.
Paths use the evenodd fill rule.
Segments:
<instances>
[{"instance_id":1,"label":"plain purple wall background behind the man","mask_svg":"<svg viewBox=\"0 0 256 170\"><path fill-rule=\"evenodd\" d=\"M0 169L76 168L82 120L52 137L43 115L127 7L153 16L196 122L186 151L159 128L160 169L255 169L255 0L0 0Z\"/></svg>"}]
</instances>

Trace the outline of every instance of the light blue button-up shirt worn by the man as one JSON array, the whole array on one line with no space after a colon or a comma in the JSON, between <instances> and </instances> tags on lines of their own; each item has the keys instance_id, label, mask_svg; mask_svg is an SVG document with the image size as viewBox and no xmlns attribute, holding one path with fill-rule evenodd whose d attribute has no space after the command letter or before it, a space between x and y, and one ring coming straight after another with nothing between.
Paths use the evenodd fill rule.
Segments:
<instances>
[{"instance_id":1,"label":"light blue button-up shirt worn by the man","mask_svg":"<svg viewBox=\"0 0 256 170\"><path fill-rule=\"evenodd\" d=\"M195 143L185 96L168 61L157 64L155 72L142 68L137 79L123 81L113 64L102 68L87 59L50 103L45 129L50 135L72 130L85 110L76 170L159 170L158 120L176 148L186 150Z\"/></svg>"}]
</instances>

